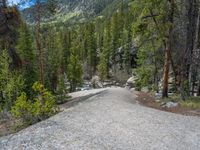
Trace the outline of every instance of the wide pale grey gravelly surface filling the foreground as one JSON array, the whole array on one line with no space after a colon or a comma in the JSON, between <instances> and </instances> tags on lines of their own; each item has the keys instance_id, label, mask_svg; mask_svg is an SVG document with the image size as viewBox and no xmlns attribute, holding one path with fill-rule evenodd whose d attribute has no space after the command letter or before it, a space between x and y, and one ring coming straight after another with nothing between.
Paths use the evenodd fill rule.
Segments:
<instances>
[{"instance_id":1,"label":"wide pale grey gravelly surface filling the foreground","mask_svg":"<svg viewBox=\"0 0 200 150\"><path fill-rule=\"evenodd\" d=\"M1 150L200 150L200 118L143 107L111 88L17 134Z\"/></svg>"}]
</instances>

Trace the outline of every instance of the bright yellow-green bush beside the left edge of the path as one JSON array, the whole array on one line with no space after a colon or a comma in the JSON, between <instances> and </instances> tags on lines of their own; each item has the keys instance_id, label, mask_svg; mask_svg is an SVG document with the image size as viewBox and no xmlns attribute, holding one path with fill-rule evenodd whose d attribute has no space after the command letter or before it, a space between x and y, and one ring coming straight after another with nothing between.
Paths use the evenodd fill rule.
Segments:
<instances>
[{"instance_id":1,"label":"bright yellow-green bush beside the left edge of the path","mask_svg":"<svg viewBox=\"0 0 200 150\"><path fill-rule=\"evenodd\" d=\"M58 111L55 97L43 85L36 82L32 88L36 98L29 100L26 93L22 93L11 109L14 117L22 119L27 124L46 119Z\"/></svg>"}]
</instances>

